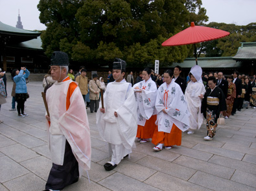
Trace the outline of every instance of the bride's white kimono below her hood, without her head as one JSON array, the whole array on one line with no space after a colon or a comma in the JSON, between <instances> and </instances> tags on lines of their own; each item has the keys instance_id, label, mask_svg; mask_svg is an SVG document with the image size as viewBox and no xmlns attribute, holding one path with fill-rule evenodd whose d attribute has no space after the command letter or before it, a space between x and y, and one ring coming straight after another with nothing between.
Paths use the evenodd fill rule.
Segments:
<instances>
[{"instance_id":1,"label":"bride's white kimono below her hood, without her head","mask_svg":"<svg viewBox=\"0 0 256 191\"><path fill-rule=\"evenodd\" d=\"M189 116L190 130L198 130L204 121L204 116L201 114L202 99L198 95L205 94L204 84L200 82L190 81L187 84L185 98L187 99L188 108L191 116Z\"/></svg>"}]
</instances>

